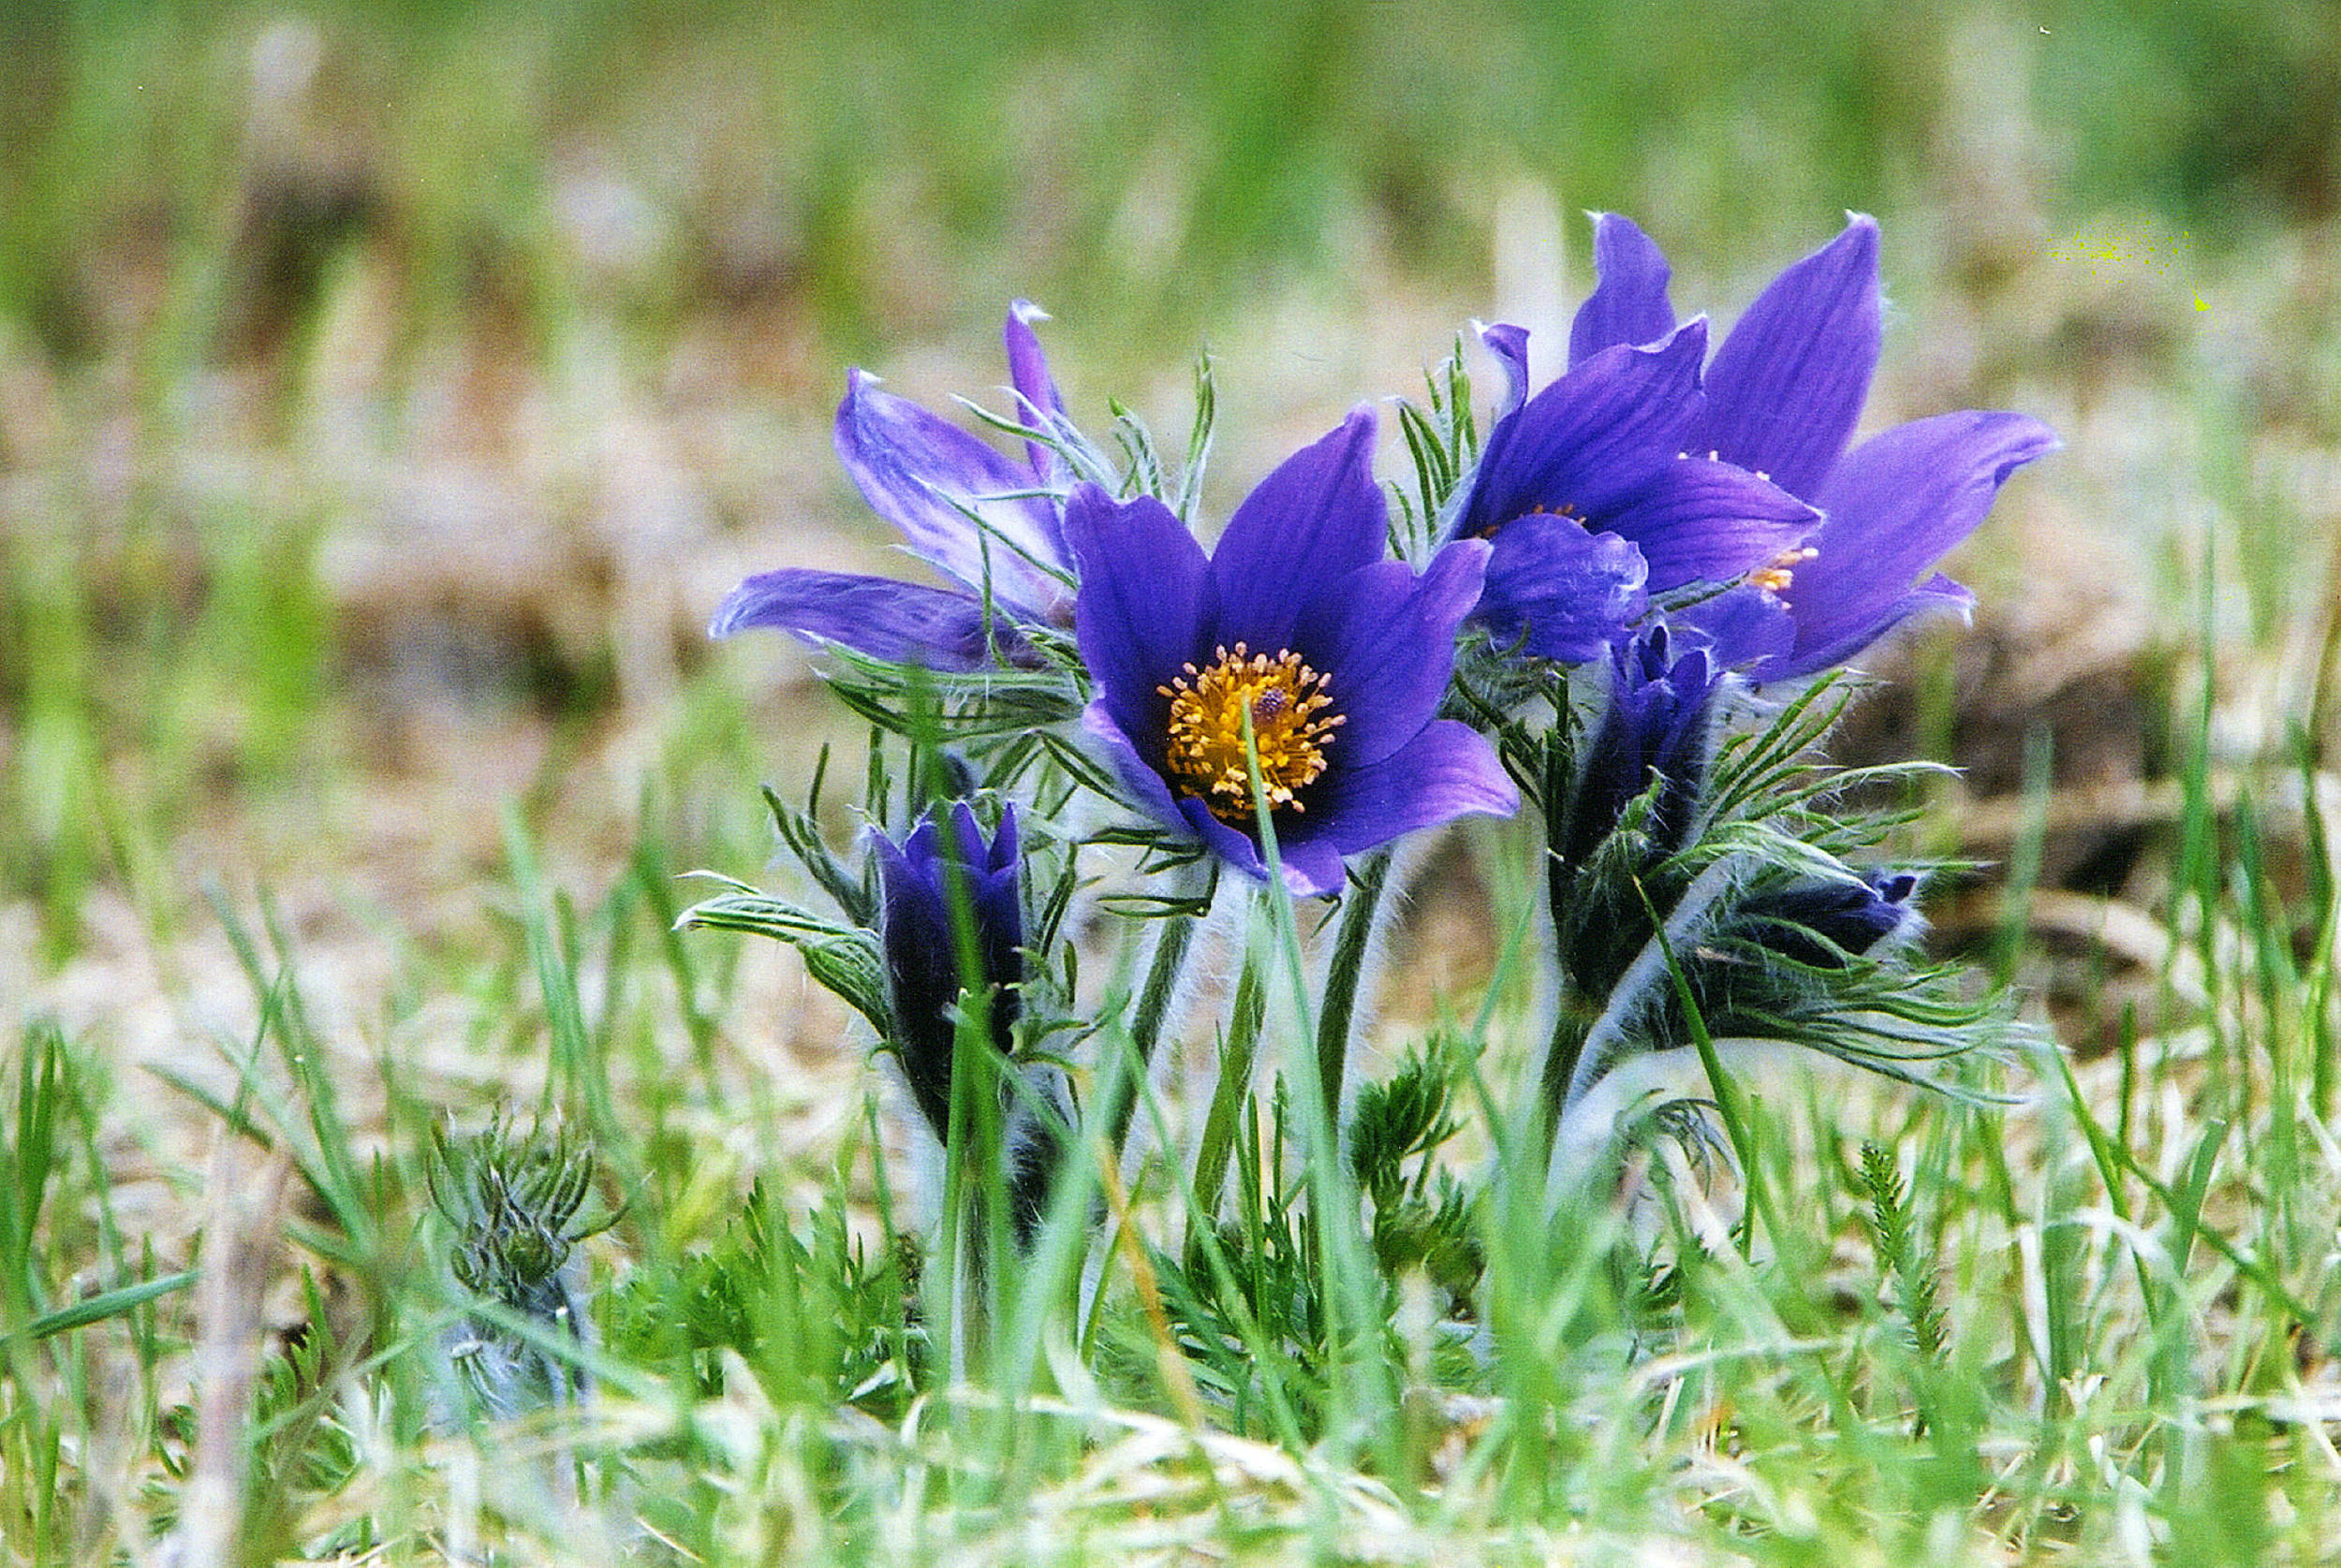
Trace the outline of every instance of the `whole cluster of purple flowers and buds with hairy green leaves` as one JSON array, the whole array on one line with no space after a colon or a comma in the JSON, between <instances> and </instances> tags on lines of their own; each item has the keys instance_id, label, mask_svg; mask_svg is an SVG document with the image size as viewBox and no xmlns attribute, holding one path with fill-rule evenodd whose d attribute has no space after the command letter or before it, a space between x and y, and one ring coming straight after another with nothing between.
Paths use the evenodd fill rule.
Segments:
<instances>
[{"instance_id":1,"label":"whole cluster of purple flowers and buds with hairy green leaves","mask_svg":"<svg viewBox=\"0 0 2341 1568\"><path fill-rule=\"evenodd\" d=\"M1201 913L1220 868L1271 901L1344 899L1355 917L1313 1013L1334 1114L1391 847L1531 805L1561 997L1540 1072L1552 1123L1611 1065L1702 1023L1887 1072L1971 1044L1973 1016L1908 1002L1931 974L1908 941L1927 868L1861 864L1875 835L1817 805L1812 744L1849 695L1833 672L1915 615L1966 611L1936 559L2055 438L1969 410L1854 440L1877 250L1877 225L1852 218L1709 351L1707 318L1676 318L1660 248L1601 215L1599 286L1559 377L1531 391L1529 335L1491 325L1505 391L1484 442L1458 367L1428 412L1402 410L1421 506L1377 482L1360 410L1266 473L1208 548L1192 515L1208 384L1173 477L1126 414L1110 442L1082 435L1025 302L1007 318L1011 410L983 417L1014 452L852 372L838 456L943 585L770 571L712 630L831 648L857 711L920 777L955 782L906 791L908 812L873 796L859 899L808 850L803 814L791 847L843 889L847 922L789 913L773 934L819 948L831 976L852 969L838 953L883 969L883 997L861 985L857 1006L948 1147L962 1041L1023 1072L1053 1060L1039 1041L1098 1030L1070 1016L1056 936L1098 875L1089 845L1147 847L1135 875L1170 878L1149 910L1170 922ZM1084 793L1117 814L1107 828L1075 826ZM1185 953L1156 941L1128 1023L1140 1055ZM1077 1114L1046 1109L1011 1140L1018 1240ZM1117 1140L1124 1126L1110 1116Z\"/></svg>"}]
</instances>

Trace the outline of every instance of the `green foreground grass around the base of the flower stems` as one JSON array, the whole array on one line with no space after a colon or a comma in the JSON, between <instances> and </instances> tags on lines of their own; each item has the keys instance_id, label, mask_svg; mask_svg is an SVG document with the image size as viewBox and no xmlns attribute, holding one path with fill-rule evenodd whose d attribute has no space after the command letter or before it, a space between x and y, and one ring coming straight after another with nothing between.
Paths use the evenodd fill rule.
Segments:
<instances>
[{"instance_id":1,"label":"green foreground grass around the base of the flower stems","mask_svg":"<svg viewBox=\"0 0 2341 1568\"><path fill-rule=\"evenodd\" d=\"M1575 1540L1758 1563L2011 1547L2322 1561L2341 1526L2334 901L2327 875L2287 887L2266 854L2271 835L2315 843L2322 817L2217 810L2201 756L2168 910L2198 999L2168 995L2151 1032L2095 1060L2044 1044L2002 1079L2006 1107L1742 1077L1735 1147L1772 1215L1751 1257L1711 1229L1737 1212L1721 1168L1662 1161L1632 1210L1547 1210L1536 1161L1505 1154L1533 1030L1510 1011L1426 1058L1444 1062L1419 1081L1449 1114L1416 1116L1423 1137L1367 1182L1377 1222L1330 1238L1311 1215L1355 1208L1355 1187L1320 1154L1292 1158L1325 1144L1290 915L1269 908L1252 920L1262 1065L1292 1093L1245 1102L1231 1208L1206 1224L1161 1163L1133 1208L1110 1184L1142 1261L1121 1252L1084 1320L1077 1191L1030 1273L995 1275L962 1322L979 1336L967 1383L948 1376L936 1282L922 1292L887 1240L908 1224L904 1172L866 1112L843 1116L826 1158L740 1158L740 1135L773 1149L758 1128L782 1088L742 1095L714 1060L758 1027L730 995L742 938L667 941L655 840L613 885L569 889L513 821L482 887L510 920L461 962L414 960L405 983L471 974L485 1048L550 1041L543 1105L590 1140L602 1203L623 1215L583 1254L597 1348L543 1346L578 1357L599 1395L494 1435L426 1425L459 1301L417 1231L445 1107L433 1062L412 1039L323 1034L297 941L222 906L260 1027L166 1079L246 1161L290 1163L269 1275L307 1280L300 1336L262 1339L236 1549L1119 1561L1215 1542L1243 1561L1540 1561ZM2252 793L2297 779L2271 768ZM386 1100L361 1123L363 1079ZM9 1074L14 1561L136 1554L187 1486L201 1297L190 1259L159 1257L112 1198L124 1098L152 1086L112 1079L96 1041L52 1025L23 1034ZM1163 1114L1149 1091L1140 1116ZM1454 1126L1468 1133L1449 1156L1491 1158L1442 1161ZM1442 1163L1475 1194L1465 1322L1444 1313L1451 1271L1442 1285L1402 1247L1384 1252L1395 1268L1372 1261L1400 1240L1379 1217L1409 1189L1435 1196ZM751 1177L763 1196L742 1210ZM171 1180L211 1224L234 1212L218 1177L208 1198L199 1170ZM1185 1254L1161 1250L1175 1233ZM475 1442L496 1453L485 1488Z\"/></svg>"}]
</instances>

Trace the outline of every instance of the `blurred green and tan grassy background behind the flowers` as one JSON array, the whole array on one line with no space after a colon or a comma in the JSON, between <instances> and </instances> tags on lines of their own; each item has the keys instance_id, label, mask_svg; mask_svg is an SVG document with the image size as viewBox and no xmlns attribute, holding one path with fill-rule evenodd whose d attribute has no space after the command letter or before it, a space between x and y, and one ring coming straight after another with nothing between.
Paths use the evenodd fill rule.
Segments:
<instances>
[{"instance_id":1,"label":"blurred green and tan grassy background behind the flowers","mask_svg":"<svg viewBox=\"0 0 2341 1568\"><path fill-rule=\"evenodd\" d=\"M1028 295L1077 417L1178 428L1208 346L1224 513L1470 318L1557 330L1583 208L1725 318L1875 211L1882 414L2055 421L2002 515L2130 611L2170 527L2280 513L2219 548L2304 625L2329 484L2266 435L2341 440L2336 82L2327 0L14 0L0 896L47 962L91 889L169 931L204 871L339 866L428 929L499 796L744 868L747 782L822 725L798 655L698 627L887 559L843 365L981 396ZM2135 555L2086 566L2102 527ZM2105 611L2039 604L2018 641Z\"/></svg>"}]
</instances>

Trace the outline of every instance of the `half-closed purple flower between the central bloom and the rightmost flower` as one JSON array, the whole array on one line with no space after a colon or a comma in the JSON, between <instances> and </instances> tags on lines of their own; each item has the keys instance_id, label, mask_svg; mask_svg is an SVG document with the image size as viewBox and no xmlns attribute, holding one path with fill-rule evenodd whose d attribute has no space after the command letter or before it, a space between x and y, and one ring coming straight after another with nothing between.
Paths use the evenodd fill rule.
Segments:
<instances>
[{"instance_id":1,"label":"half-closed purple flower between the central bloom and the rightmost flower","mask_svg":"<svg viewBox=\"0 0 2341 1568\"><path fill-rule=\"evenodd\" d=\"M1620 321L1615 330L1639 332ZM1704 419L1707 323L1648 346L1604 344L1533 398L1529 335L1482 332L1510 391L1489 426L1454 538L1496 552L1472 620L1503 644L1585 662L1641 620L1650 594L1730 583L1777 559L1819 513L1693 433Z\"/></svg>"}]
</instances>

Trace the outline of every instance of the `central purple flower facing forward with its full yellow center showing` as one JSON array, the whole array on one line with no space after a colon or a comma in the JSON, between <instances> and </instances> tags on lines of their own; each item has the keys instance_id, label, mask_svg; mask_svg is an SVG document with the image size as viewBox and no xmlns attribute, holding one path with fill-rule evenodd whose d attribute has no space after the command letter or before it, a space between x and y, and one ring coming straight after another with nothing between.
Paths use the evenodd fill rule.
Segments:
<instances>
[{"instance_id":1,"label":"central purple flower facing forward with its full yellow center showing","mask_svg":"<svg viewBox=\"0 0 2341 1568\"><path fill-rule=\"evenodd\" d=\"M1337 892L1344 854L1519 807L1494 747L1435 718L1489 545L1451 543L1421 576L1384 559L1372 452L1360 410L1262 480L1208 557L1149 496L1082 484L1065 503L1098 686L1084 723L1138 805L1264 878L1250 716L1295 894Z\"/></svg>"}]
</instances>

